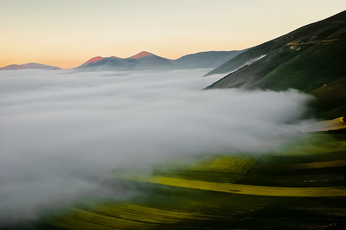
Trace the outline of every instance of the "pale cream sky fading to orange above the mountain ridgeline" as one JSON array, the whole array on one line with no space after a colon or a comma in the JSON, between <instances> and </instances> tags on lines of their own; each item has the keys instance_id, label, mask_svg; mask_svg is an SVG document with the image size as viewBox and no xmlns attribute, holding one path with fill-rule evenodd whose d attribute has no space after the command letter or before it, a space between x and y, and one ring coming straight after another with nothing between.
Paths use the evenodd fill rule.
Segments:
<instances>
[{"instance_id":1,"label":"pale cream sky fading to orange above the mountain ridgeline","mask_svg":"<svg viewBox=\"0 0 346 230\"><path fill-rule=\"evenodd\" d=\"M0 0L0 67L72 68L141 51L176 59L259 45L346 9L345 0Z\"/></svg>"}]
</instances>

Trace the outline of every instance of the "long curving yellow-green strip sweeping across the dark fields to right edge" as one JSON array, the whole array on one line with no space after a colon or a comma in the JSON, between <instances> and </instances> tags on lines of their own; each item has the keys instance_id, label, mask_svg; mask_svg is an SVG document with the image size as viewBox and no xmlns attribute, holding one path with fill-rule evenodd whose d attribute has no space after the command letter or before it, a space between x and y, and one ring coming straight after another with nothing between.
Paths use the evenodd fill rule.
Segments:
<instances>
[{"instance_id":1,"label":"long curving yellow-green strip sweeping across the dark fields to right edge","mask_svg":"<svg viewBox=\"0 0 346 230\"><path fill-rule=\"evenodd\" d=\"M134 176L115 175L118 179L162 184L184 188L194 188L216 192L237 193L258 196L307 196L307 197L330 197L346 196L346 189L343 187L270 187L257 185L242 185L229 183L216 183L206 181L186 180L181 178L162 176Z\"/></svg>"}]
</instances>

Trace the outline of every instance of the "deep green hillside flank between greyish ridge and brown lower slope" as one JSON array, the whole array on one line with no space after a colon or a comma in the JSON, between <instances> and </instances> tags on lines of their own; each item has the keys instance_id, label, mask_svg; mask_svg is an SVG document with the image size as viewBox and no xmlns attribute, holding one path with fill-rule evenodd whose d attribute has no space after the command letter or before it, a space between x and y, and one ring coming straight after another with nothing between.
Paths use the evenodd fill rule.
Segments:
<instances>
[{"instance_id":1,"label":"deep green hillside flank between greyish ridge and brown lower slope","mask_svg":"<svg viewBox=\"0 0 346 230\"><path fill-rule=\"evenodd\" d=\"M254 87L276 91L294 88L310 92L345 76L345 53L346 27L343 27L276 67Z\"/></svg>"}]
</instances>

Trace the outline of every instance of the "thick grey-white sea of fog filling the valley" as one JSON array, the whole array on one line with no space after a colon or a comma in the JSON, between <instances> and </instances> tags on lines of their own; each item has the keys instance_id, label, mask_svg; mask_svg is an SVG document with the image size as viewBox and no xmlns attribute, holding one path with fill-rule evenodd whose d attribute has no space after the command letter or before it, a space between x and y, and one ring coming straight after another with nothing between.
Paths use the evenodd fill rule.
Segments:
<instances>
[{"instance_id":1,"label":"thick grey-white sea of fog filling the valley","mask_svg":"<svg viewBox=\"0 0 346 230\"><path fill-rule=\"evenodd\" d=\"M201 77L209 71L0 71L0 222L88 191L108 195L98 178L122 165L256 154L309 122L306 95L201 90L223 77Z\"/></svg>"}]
</instances>

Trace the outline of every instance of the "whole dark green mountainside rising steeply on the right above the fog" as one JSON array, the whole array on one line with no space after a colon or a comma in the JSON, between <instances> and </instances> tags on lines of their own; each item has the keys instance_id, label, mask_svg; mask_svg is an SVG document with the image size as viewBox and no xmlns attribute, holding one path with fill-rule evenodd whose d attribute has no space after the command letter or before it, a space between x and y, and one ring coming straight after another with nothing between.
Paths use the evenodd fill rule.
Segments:
<instances>
[{"instance_id":1,"label":"whole dark green mountainside rising steeply on the right above the fog","mask_svg":"<svg viewBox=\"0 0 346 230\"><path fill-rule=\"evenodd\" d=\"M249 48L204 76L228 73L208 88L297 89L317 98L317 117L334 119L346 114L345 54L343 11Z\"/></svg>"}]
</instances>

